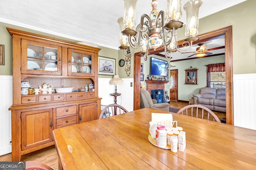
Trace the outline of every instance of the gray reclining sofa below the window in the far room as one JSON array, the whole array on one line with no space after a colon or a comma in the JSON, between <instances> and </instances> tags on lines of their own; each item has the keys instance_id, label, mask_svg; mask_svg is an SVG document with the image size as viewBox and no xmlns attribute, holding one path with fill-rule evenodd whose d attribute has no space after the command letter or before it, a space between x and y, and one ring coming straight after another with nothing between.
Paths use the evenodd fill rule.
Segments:
<instances>
[{"instance_id":1,"label":"gray reclining sofa below the window in the far room","mask_svg":"<svg viewBox=\"0 0 256 170\"><path fill-rule=\"evenodd\" d=\"M210 110L226 113L226 89L204 87L199 94L194 94L195 104L209 108Z\"/></svg>"}]
</instances>

